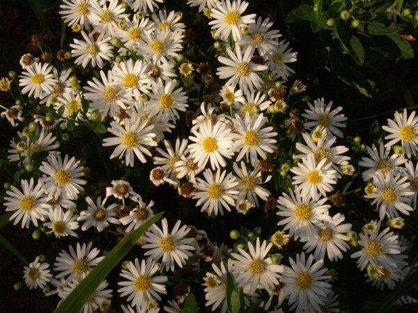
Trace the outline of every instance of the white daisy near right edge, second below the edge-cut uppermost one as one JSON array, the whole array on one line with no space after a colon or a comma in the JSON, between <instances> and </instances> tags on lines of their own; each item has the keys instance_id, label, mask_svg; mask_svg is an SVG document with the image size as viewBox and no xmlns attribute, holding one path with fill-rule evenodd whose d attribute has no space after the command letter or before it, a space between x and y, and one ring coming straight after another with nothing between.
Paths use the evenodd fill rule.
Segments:
<instances>
[{"instance_id":1,"label":"white daisy near right edge, second below the edge-cut uppermost one","mask_svg":"<svg viewBox=\"0 0 418 313\"><path fill-rule=\"evenodd\" d=\"M407 176L401 173L394 175L392 172L385 175L378 173L373 184L376 186L376 192L364 197L373 199L372 205L377 204L380 220L385 216L396 218L399 212L410 215L410 211L414 210L408 205L414 192L410 190Z\"/></svg>"}]
</instances>

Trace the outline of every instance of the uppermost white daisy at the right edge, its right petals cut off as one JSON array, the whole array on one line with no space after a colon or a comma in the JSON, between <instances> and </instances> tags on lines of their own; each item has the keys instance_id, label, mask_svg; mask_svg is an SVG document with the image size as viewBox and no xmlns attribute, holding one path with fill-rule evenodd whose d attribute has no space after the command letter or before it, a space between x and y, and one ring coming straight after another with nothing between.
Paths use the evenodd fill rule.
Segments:
<instances>
[{"instance_id":1,"label":"uppermost white daisy at the right edge, its right petals cut off","mask_svg":"<svg viewBox=\"0 0 418 313\"><path fill-rule=\"evenodd\" d=\"M387 126L382 126L382 129L390 133L385 137L386 140L390 140L385 147L392 147L401 141L408 158L418 150L418 116L415 116L415 113L412 111L408 118L406 109L403 109L403 113L395 112L395 119L388 119Z\"/></svg>"}]
</instances>

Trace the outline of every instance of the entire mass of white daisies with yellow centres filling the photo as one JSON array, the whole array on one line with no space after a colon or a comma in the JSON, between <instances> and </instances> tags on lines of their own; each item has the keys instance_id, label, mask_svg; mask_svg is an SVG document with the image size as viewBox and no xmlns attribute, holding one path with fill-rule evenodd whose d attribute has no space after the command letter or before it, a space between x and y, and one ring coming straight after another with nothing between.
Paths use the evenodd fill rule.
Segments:
<instances>
[{"instance_id":1,"label":"entire mass of white daisies with yellow centres filling the photo","mask_svg":"<svg viewBox=\"0 0 418 313\"><path fill-rule=\"evenodd\" d=\"M287 177L287 186L292 186L283 193L279 190L269 240L263 239L265 233L253 233L251 238L241 234L243 239L229 249L224 243L210 241L204 230L182 225L178 219L171 231L171 221L166 218L161 227L153 225L140 239L141 258L123 263L118 293L129 302L121 306L123 312L159 312L170 275L185 267L198 273L201 268L196 259L212 262L206 264L212 271L201 282L206 306L222 313L228 308L229 273L242 288L245 307L258 297L258 305L268 312L278 312L274 310L285 300L295 312L339 312L338 294L332 289L336 275L325 266L344 259L350 246L361 248L351 257L358 258L361 271L366 268L368 282L393 289L409 271L401 254L408 243L401 242L389 227L401 228L400 215L409 215L417 204L418 165L412 161L418 152L415 112L409 118L406 110L395 113L395 119L383 127L390 133L385 137L389 141L366 147L369 157L359 162L367 168L362 172L366 198L373 199L371 205L377 204L380 220L366 224L357 240L352 225L345 223L346 216L327 204L339 180L353 175L355 169L344 155L348 147L337 144L346 127L343 108L317 99L284 125L274 123L274 115L287 109L284 95L303 91L305 86L295 81L291 88L286 87L295 73L288 63L296 61L297 53L288 42L279 40L281 34L272 29L273 22L247 14L247 1L187 1L210 19L208 26L217 44L215 64L211 64L217 77L202 73L196 82L190 78L194 66L210 66L184 61L181 53L187 31L182 14L160 10L162 3L63 0L63 21L79 34L70 44L71 57L87 76L85 82L71 76L69 69L60 72L30 54L22 56L23 72L18 80L22 94L49 113L34 115L35 122L10 142L9 161L27 172L32 172L33 160L43 158L38 179L22 179L22 188L11 186L6 191L6 211L13 211L10 220L22 228L43 228L63 239L78 237L80 230L110 233L111 227L117 227L117 235L124 235L157 213L154 202L144 201L129 178L107 182L105 193L87 195L84 185L91 178L89 169L59 151L56 129L84 123L91 129L100 123L103 149L116 146L113 152L109 150L109 159L124 159L113 162L133 169L142 165L135 159L152 161L150 182L169 184L184 198L196 200L193 203L208 218L225 211L252 214L270 200L274 207L275 193L268 184L277 177L272 179L270 172L283 172L279 179ZM209 89L215 80L217 85ZM196 90L197 99L187 95ZM201 92L211 95L202 97ZM3 113L13 127L24 121L22 106ZM176 133L180 123L189 127L183 136ZM173 141L167 139L173 137ZM279 170L274 168L277 160L272 160L280 153L278 143L284 138L292 141L296 152ZM401 145L391 154L398 141ZM381 230L385 218L388 227ZM279 254L290 240L302 243L300 251ZM24 268L24 280L29 288L50 283L54 290L48 295L63 299L104 258L99 253L91 242L69 246L69 251L56 257L55 275L37 257ZM100 284L84 312L95 312L103 303L110 303L113 291L108 286L106 280ZM180 312L183 301L184 295L169 300L164 310Z\"/></svg>"}]
</instances>

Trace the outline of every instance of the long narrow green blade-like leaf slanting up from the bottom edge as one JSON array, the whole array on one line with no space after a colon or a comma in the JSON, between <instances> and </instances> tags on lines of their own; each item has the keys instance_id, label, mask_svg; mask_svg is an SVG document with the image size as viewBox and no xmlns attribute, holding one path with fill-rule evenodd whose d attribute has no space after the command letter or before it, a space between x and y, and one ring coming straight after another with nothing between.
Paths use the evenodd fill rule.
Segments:
<instances>
[{"instance_id":1,"label":"long narrow green blade-like leaf slanting up from the bottom edge","mask_svg":"<svg viewBox=\"0 0 418 313\"><path fill-rule=\"evenodd\" d=\"M88 273L86 278L78 284L78 286L68 295L67 298L59 304L54 313L74 313L80 312L84 303L91 294L97 289L110 271L121 262L121 259L129 252L137 243L137 240L153 225L157 220L162 218L164 212L150 218L146 223L141 225L137 230L130 232L124 239L119 242L102 261Z\"/></svg>"}]
</instances>

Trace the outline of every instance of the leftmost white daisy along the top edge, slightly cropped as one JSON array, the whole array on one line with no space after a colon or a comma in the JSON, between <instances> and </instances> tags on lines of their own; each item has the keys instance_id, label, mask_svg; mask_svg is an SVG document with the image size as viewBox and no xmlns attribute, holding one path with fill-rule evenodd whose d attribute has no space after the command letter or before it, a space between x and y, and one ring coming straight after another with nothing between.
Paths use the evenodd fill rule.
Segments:
<instances>
[{"instance_id":1,"label":"leftmost white daisy along the top edge, slightly cropped","mask_svg":"<svg viewBox=\"0 0 418 313\"><path fill-rule=\"evenodd\" d=\"M68 26L79 24L88 29L94 15L91 3L91 0L63 0L59 14L63 15L64 23Z\"/></svg>"}]
</instances>

